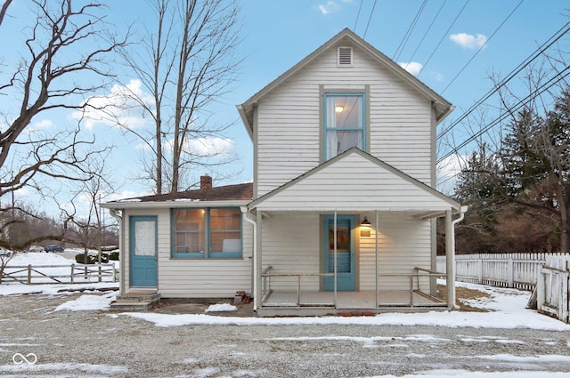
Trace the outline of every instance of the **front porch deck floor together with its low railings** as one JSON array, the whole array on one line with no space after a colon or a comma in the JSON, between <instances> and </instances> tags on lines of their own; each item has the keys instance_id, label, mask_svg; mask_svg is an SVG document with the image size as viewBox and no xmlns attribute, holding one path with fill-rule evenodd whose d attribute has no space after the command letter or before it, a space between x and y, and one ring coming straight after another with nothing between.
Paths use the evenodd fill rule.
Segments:
<instances>
[{"instance_id":1,"label":"front porch deck floor together with its low railings","mask_svg":"<svg viewBox=\"0 0 570 378\"><path fill-rule=\"evenodd\" d=\"M384 274L378 278L405 278L409 282L408 290L349 291L311 291L303 289L303 278L333 277L334 273L299 274L274 273L267 267L262 277L262 300L257 309L258 316L303 316L328 314L367 315L389 311L446 310L448 303L426 293L429 281L436 277L446 277L444 273L427 269L414 268L410 274ZM272 280L279 277L297 280L296 291L273 290Z\"/></svg>"}]
</instances>

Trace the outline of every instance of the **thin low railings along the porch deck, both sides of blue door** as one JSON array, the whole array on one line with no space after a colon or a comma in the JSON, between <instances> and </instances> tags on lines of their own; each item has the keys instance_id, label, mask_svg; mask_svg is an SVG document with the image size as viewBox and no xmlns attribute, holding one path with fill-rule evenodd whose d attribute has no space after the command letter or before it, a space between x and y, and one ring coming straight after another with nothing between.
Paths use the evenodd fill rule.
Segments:
<instances>
[{"instance_id":1,"label":"thin low railings along the porch deck, both sides of blue door","mask_svg":"<svg viewBox=\"0 0 570 378\"><path fill-rule=\"evenodd\" d=\"M261 303L262 303L262 305L267 301L269 296L273 293L272 277L297 277L297 307L300 307L301 306L300 299L301 299L301 278L302 277L334 277L335 276L334 273L273 273L272 270L273 270L273 267L268 266L261 273L261 278L262 278L262 283L261 283L262 301L261 301ZM408 274L404 274L404 273L402 273L402 274L379 274L378 278L381 278L381 277L408 278L409 301L407 303L406 302L404 302L404 303L391 303L389 306L416 307L416 304L414 303L414 298L413 298L414 294L419 294L423 297L428 298L429 300L431 300L433 302L432 304L422 303L421 306L424 306L424 307L441 306L441 305L447 303L447 301L442 301L441 299L436 298L435 296L424 292L422 290L422 287L421 287L421 283L423 281L427 281L426 278L428 278L428 279L431 279L432 277L433 278L447 278L447 275L445 273L416 267L412 270L412 273L408 273ZM423 280L422 280L422 278L423 278ZM415 282L415 286L414 286L414 282ZM431 285L431 284L429 284L429 285ZM387 306L386 304L380 303L379 293L380 293L380 291L377 288L376 289L376 307L378 308L378 307ZM337 295L336 295L337 292L336 292L336 290L335 290L334 294L335 295L334 295L333 306L334 306L334 308L336 308L337 307Z\"/></svg>"}]
</instances>

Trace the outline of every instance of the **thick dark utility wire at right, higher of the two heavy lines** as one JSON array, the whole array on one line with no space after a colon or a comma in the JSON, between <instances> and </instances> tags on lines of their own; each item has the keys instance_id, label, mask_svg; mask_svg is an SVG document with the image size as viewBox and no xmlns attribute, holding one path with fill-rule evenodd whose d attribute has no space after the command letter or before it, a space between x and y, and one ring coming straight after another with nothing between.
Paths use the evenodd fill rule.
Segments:
<instances>
[{"instance_id":1,"label":"thick dark utility wire at right, higher of the two heavy lines","mask_svg":"<svg viewBox=\"0 0 570 378\"><path fill-rule=\"evenodd\" d=\"M517 68L514 68L512 71L510 71L509 75L505 76L498 84L496 84L493 87L493 89L491 89L489 92L486 92L481 99L479 99L478 101L476 101L476 103L471 105L471 107L467 109L465 113L463 113L457 120L453 121L452 125L447 126L441 133L439 133L437 135L437 140L440 140L441 138L444 137L446 133L452 131L453 127L459 125L460 122L463 121L465 118L467 118L468 115L471 114L477 107L482 105L485 101L489 100L489 98L494 93L499 92L501 87L509 83L510 80L512 80L515 76L517 76L523 69L525 69L526 66L532 63L533 60L536 60L539 56L542 55L542 53L550 49L552 44L556 44L558 40L562 38L562 36L565 36L566 33L568 33L568 31L570 31L570 21L566 22L566 25L564 25L562 28L559 28L556 33L550 36L548 40L546 40L542 45L540 45L536 50L534 50L533 53L531 53L525 60L523 60L517 66Z\"/></svg>"}]
</instances>

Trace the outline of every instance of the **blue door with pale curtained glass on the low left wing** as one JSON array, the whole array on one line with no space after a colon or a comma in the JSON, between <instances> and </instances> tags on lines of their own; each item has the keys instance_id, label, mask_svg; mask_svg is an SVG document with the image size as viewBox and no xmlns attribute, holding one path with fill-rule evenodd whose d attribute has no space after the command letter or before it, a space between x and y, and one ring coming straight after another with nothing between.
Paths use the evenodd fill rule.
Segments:
<instances>
[{"instance_id":1,"label":"blue door with pale curtained glass on the low left wing","mask_svg":"<svg viewBox=\"0 0 570 378\"><path fill-rule=\"evenodd\" d=\"M130 220L131 286L157 286L157 217L134 216Z\"/></svg>"}]
</instances>

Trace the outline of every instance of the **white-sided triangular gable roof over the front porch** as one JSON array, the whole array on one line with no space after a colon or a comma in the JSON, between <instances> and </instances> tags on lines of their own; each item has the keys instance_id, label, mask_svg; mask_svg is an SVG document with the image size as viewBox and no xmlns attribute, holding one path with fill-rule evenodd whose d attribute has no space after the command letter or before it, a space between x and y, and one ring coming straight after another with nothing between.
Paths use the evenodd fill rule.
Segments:
<instances>
[{"instance_id":1,"label":"white-sided triangular gable roof over the front porch","mask_svg":"<svg viewBox=\"0 0 570 378\"><path fill-rule=\"evenodd\" d=\"M392 165L349 149L281 187L248 209L263 212L405 212L419 217L460 213L460 203Z\"/></svg>"}]
</instances>

